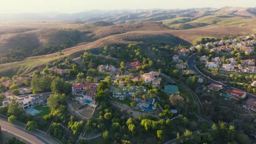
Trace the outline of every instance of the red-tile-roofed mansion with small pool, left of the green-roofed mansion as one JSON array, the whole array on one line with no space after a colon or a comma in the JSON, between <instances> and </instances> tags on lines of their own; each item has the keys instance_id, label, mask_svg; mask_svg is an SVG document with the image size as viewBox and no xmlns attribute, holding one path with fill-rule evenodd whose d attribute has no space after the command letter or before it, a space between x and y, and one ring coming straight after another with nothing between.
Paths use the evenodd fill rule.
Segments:
<instances>
[{"instance_id":1,"label":"red-tile-roofed mansion with small pool, left of the green-roofed mansion","mask_svg":"<svg viewBox=\"0 0 256 144\"><path fill-rule=\"evenodd\" d=\"M94 99L97 92L95 83L74 83L72 86L72 94L85 94L88 99Z\"/></svg>"}]
</instances>

